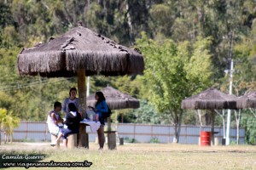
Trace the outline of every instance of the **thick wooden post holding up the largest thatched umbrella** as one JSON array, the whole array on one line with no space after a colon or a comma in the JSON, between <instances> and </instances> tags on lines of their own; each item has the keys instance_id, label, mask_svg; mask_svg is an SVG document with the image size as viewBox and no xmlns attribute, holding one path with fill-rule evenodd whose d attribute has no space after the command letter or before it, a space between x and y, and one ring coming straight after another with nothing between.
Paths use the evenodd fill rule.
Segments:
<instances>
[{"instance_id":1,"label":"thick wooden post holding up the largest thatched umbrella","mask_svg":"<svg viewBox=\"0 0 256 170\"><path fill-rule=\"evenodd\" d=\"M79 69L78 75L78 88L79 88L79 110L82 112L82 119L86 117L86 79L85 69ZM79 111L79 112L80 112ZM79 147L89 148L88 133L83 123L79 125Z\"/></svg>"}]
</instances>

